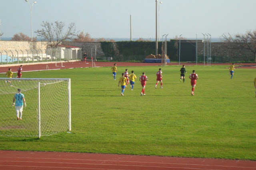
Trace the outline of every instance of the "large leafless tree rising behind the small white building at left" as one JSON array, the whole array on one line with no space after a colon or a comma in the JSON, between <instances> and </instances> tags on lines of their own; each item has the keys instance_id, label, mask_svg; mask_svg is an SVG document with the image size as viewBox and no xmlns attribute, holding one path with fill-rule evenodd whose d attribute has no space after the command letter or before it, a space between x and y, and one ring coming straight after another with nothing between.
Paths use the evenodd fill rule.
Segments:
<instances>
[{"instance_id":1,"label":"large leafless tree rising behind the small white building at left","mask_svg":"<svg viewBox=\"0 0 256 170\"><path fill-rule=\"evenodd\" d=\"M64 41L73 40L78 35L74 23L68 25L66 32L64 32L64 22L49 23L43 21L41 26L43 27L42 30L37 30L35 33L38 37L47 41L52 49L56 49Z\"/></svg>"}]
</instances>

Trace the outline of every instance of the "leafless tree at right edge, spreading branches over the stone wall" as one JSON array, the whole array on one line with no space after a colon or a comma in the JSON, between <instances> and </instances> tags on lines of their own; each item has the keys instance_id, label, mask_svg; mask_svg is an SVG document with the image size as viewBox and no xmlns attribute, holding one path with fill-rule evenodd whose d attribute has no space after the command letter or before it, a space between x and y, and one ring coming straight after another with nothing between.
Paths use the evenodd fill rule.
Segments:
<instances>
[{"instance_id":1,"label":"leafless tree at right edge, spreading branches over the stone wall","mask_svg":"<svg viewBox=\"0 0 256 170\"><path fill-rule=\"evenodd\" d=\"M235 43L233 48L244 48L251 51L254 55L254 62L256 62L256 30L248 31L246 34L236 34L234 37L229 33L222 34L221 37L224 38L224 42Z\"/></svg>"}]
</instances>

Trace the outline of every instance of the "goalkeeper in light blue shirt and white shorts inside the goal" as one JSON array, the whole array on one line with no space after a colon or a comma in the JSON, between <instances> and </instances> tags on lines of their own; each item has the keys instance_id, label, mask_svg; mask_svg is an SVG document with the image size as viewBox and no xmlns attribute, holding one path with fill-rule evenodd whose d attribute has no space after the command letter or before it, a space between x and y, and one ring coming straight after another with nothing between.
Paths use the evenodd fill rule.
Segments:
<instances>
[{"instance_id":1,"label":"goalkeeper in light blue shirt and white shorts inside the goal","mask_svg":"<svg viewBox=\"0 0 256 170\"><path fill-rule=\"evenodd\" d=\"M26 107L27 105L26 105L24 94L22 94L21 90L18 89L18 93L14 95L13 102L12 102L12 106L15 105L17 120L22 120L23 102L24 102L24 107Z\"/></svg>"}]
</instances>

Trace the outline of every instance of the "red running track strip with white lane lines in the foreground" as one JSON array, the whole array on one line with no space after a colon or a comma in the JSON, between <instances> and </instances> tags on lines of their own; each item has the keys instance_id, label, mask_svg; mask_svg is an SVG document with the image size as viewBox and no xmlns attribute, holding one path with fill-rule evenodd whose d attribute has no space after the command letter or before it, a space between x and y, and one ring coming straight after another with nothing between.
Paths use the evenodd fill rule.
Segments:
<instances>
[{"instance_id":1,"label":"red running track strip with white lane lines in the foreground","mask_svg":"<svg viewBox=\"0 0 256 170\"><path fill-rule=\"evenodd\" d=\"M1 170L256 170L256 161L0 150Z\"/></svg>"}]
</instances>

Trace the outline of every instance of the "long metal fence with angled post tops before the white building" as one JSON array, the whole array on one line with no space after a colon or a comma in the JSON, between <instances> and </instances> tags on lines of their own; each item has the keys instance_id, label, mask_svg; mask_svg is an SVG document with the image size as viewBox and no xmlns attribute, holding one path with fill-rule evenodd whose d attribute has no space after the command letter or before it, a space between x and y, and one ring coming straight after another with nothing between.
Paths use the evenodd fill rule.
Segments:
<instances>
[{"instance_id":1,"label":"long metal fence with angled post tops before the white building","mask_svg":"<svg viewBox=\"0 0 256 170\"><path fill-rule=\"evenodd\" d=\"M0 51L0 65L16 63L35 63L48 61L79 60L82 57L80 49L30 49Z\"/></svg>"}]
</instances>

